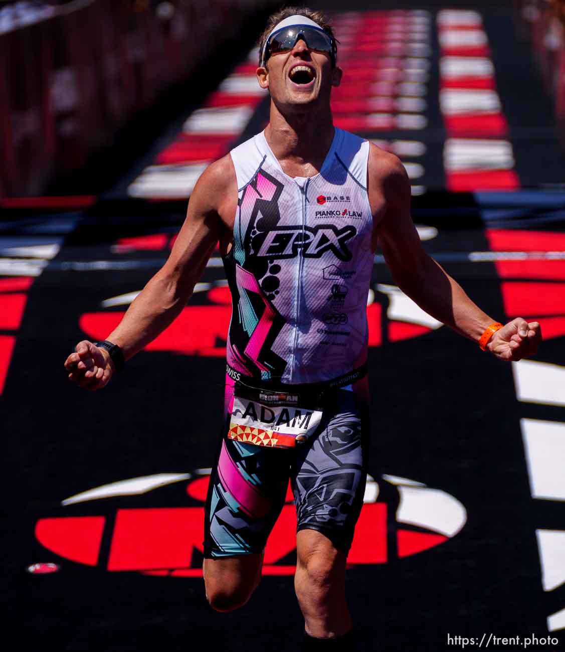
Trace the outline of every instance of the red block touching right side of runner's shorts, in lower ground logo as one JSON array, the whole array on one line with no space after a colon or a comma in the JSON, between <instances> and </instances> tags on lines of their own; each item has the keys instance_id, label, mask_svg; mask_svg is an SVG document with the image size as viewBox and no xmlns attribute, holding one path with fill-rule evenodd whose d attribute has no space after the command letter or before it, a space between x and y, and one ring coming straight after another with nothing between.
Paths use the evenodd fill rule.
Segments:
<instances>
[{"instance_id":1,"label":"red block touching right side of runner's shorts, in lower ground logo","mask_svg":"<svg viewBox=\"0 0 565 652\"><path fill-rule=\"evenodd\" d=\"M347 561L351 564L386 563L386 505L363 505Z\"/></svg>"}]
</instances>

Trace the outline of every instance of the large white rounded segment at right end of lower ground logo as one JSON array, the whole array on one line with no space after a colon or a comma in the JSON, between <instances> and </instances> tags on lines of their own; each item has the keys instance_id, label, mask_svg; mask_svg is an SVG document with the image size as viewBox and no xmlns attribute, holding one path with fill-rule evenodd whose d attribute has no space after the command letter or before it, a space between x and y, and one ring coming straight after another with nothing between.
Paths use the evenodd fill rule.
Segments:
<instances>
[{"instance_id":1,"label":"large white rounded segment at right end of lower ground logo","mask_svg":"<svg viewBox=\"0 0 565 652\"><path fill-rule=\"evenodd\" d=\"M454 537L467 522L461 503L440 489L398 486L400 503L396 511L399 523L427 527L446 537Z\"/></svg>"}]
</instances>

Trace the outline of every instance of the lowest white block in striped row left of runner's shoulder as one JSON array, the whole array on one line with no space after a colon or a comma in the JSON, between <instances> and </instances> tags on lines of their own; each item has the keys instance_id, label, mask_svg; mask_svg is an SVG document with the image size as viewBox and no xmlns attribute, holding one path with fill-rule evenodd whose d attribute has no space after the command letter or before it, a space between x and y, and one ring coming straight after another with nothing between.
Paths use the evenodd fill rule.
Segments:
<instances>
[{"instance_id":1,"label":"lowest white block in striped row left of runner's shoulder","mask_svg":"<svg viewBox=\"0 0 565 652\"><path fill-rule=\"evenodd\" d=\"M209 162L149 166L128 187L132 197L188 198Z\"/></svg>"}]
</instances>

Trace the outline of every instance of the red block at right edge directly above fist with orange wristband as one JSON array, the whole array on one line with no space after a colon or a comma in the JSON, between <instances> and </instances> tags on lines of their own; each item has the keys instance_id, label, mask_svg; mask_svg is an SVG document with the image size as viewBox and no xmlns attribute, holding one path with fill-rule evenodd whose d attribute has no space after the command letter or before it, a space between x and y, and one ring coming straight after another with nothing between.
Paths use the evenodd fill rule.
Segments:
<instances>
[{"instance_id":1,"label":"red block at right edge directly above fist with orange wristband","mask_svg":"<svg viewBox=\"0 0 565 652\"><path fill-rule=\"evenodd\" d=\"M565 314L565 283L504 281L501 289L507 315Z\"/></svg>"}]
</instances>

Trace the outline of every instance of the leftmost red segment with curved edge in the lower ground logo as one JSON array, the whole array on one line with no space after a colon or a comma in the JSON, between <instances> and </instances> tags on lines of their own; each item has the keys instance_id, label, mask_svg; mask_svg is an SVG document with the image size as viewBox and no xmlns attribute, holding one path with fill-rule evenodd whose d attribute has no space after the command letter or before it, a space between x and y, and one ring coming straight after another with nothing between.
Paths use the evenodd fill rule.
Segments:
<instances>
[{"instance_id":1,"label":"leftmost red segment with curved edge in the lower ground logo","mask_svg":"<svg viewBox=\"0 0 565 652\"><path fill-rule=\"evenodd\" d=\"M42 546L61 557L96 566L105 520L104 516L40 518L35 536Z\"/></svg>"}]
</instances>

